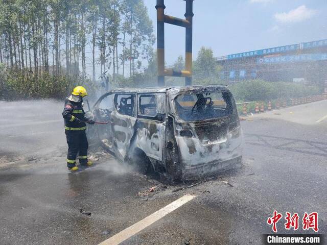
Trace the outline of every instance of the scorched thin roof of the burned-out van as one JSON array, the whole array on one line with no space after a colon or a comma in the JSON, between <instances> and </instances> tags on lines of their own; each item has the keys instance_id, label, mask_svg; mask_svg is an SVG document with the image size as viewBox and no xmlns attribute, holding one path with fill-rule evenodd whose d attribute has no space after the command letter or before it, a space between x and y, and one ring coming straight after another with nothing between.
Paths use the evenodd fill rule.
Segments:
<instances>
[{"instance_id":1,"label":"scorched thin roof of the burned-out van","mask_svg":"<svg viewBox=\"0 0 327 245\"><path fill-rule=\"evenodd\" d=\"M190 85L190 86L173 86L173 87L149 87L149 88L116 88L112 92L125 92L125 93L179 93L184 91L214 91L214 90L227 90L226 85L213 84L213 85Z\"/></svg>"}]
</instances>

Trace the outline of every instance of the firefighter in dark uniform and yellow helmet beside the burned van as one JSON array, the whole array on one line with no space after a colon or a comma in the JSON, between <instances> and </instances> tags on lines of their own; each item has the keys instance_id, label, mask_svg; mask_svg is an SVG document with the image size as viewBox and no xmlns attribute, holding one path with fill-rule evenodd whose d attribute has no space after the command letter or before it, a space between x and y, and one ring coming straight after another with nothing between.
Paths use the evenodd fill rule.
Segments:
<instances>
[{"instance_id":1,"label":"firefighter in dark uniform and yellow helmet beside the burned van","mask_svg":"<svg viewBox=\"0 0 327 245\"><path fill-rule=\"evenodd\" d=\"M95 124L95 121L86 118L83 110L83 97L87 95L86 89L82 86L74 88L72 94L65 100L65 108L62 116L65 121L65 134L68 144L67 167L76 171L77 153L81 165L90 166L92 162L87 159L88 142L86 137L86 124Z\"/></svg>"}]
</instances>

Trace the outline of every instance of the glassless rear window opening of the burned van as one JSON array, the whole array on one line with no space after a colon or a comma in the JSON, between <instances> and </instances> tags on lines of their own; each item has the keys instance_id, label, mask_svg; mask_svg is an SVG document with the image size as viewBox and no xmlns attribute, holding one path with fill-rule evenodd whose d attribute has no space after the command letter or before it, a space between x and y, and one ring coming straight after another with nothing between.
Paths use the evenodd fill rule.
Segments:
<instances>
[{"instance_id":1,"label":"glassless rear window opening of the burned van","mask_svg":"<svg viewBox=\"0 0 327 245\"><path fill-rule=\"evenodd\" d=\"M199 121L225 117L233 113L230 92L185 93L175 99L177 115L184 121Z\"/></svg>"}]
</instances>

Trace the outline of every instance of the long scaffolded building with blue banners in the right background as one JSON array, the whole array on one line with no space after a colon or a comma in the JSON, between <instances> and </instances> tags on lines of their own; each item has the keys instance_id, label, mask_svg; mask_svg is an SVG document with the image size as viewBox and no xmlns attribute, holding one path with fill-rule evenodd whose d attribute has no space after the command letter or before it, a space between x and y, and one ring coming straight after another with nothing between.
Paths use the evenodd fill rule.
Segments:
<instances>
[{"instance_id":1,"label":"long scaffolded building with blue banners in the right background","mask_svg":"<svg viewBox=\"0 0 327 245\"><path fill-rule=\"evenodd\" d=\"M220 78L229 84L261 78L307 82L323 87L327 79L327 39L265 48L217 58Z\"/></svg>"}]
</instances>

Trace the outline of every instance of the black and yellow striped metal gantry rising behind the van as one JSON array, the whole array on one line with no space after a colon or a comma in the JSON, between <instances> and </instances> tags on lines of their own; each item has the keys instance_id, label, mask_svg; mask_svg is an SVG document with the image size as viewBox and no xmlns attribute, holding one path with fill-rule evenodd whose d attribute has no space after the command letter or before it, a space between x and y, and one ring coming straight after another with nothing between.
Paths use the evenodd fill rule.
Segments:
<instances>
[{"instance_id":1,"label":"black and yellow striped metal gantry rising behind the van","mask_svg":"<svg viewBox=\"0 0 327 245\"><path fill-rule=\"evenodd\" d=\"M158 56L158 86L165 86L165 77L185 77L185 85L192 84L192 21L193 1L186 2L185 19L165 14L165 0L157 0L157 56ZM165 23L184 27L185 35L185 70L165 68Z\"/></svg>"}]
</instances>

